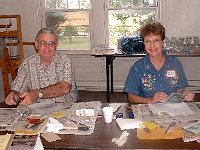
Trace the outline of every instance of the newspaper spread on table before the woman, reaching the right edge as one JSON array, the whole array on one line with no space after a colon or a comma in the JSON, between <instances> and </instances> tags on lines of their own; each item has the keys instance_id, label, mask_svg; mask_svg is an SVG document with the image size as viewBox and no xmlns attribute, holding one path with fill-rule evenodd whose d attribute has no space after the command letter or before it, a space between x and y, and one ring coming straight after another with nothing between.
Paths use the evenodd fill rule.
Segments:
<instances>
[{"instance_id":1,"label":"newspaper spread on table before the woman, reaching the right edge","mask_svg":"<svg viewBox=\"0 0 200 150\"><path fill-rule=\"evenodd\" d=\"M181 112L185 110L177 115L170 115L165 111L155 113L148 104L132 105L132 109L137 112L139 120L154 122L162 128L167 128L174 122L175 127L183 128L184 142L197 141L200 143L200 102L190 102L187 105L192 113L185 114L184 112L182 115Z\"/></svg>"}]
</instances>

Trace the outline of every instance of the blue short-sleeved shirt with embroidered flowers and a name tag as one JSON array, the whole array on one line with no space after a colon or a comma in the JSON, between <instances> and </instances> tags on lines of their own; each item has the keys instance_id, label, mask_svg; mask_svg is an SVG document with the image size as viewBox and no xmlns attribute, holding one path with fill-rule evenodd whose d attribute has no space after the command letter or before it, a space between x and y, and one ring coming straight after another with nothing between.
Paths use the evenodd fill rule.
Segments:
<instances>
[{"instance_id":1,"label":"blue short-sleeved shirt with embroidered flowers and a name tag","mask_svg":"<svg viewBox=\"0 0 200 150\"><path fill-rule=\"evenodd\" d=\"M169 96L178 89L184 89L188 82L180 60L173 56L165 57L160 70L155 69L149 55L133 64L124 91L142 97L153 97L156 92L164 92Z\"/></svg>"}]
</instances>

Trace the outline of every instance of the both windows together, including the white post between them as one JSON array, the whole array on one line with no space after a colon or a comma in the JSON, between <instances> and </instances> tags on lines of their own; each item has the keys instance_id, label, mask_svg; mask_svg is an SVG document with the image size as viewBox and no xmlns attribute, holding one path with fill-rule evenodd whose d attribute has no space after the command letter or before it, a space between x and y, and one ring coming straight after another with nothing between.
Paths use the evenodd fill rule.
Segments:
<instances>
[{"instance_id":1,"label":"both windows together, including the white post between them","mask_svg":"<svg viewBox=\"0 0 200 150\"><path fill-rule=\"evenodd\" d=\"M46 0L45 20L59 35L58 49L90 50L137 35L157 7L157 0Z\"/></svg>"}]
</instances>

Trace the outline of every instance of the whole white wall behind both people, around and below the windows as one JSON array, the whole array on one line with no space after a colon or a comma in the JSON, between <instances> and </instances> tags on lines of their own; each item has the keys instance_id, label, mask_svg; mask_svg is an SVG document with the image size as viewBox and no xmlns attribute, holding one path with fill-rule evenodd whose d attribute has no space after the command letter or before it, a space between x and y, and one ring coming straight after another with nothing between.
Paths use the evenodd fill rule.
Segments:
<instances>
[{"instance_id":1,"label":"whole white wall behind both people, around and below the windows","mask_svg":"<svg viewBox=\"0 0 200 150\"><path fill-rule=\"evenodd\" d=\"M200 36L200 0L162 0L165 3L162 9L161 21L166 27L167 36ZM0 14L20 14L22 18L22 31L24 41L33 41L39 30L36 20L36 4L38 0L0 0ZM96 3L98 1L96 0ZM99 17L96 18L98 24ZM101 30L95 30L95 34ZM101 35L101 34L99 34ZM103 40L102 40L103 42ZM98 44L98 43L96 43ZM33 47L25 46L25 54L34 52ZM75 79L79 88L91 87L106 89L105 58L95 58L90 54L71 55L75 70ZM114 60L114 86L123 87L128 71L133 62L138 58L116 58ZM180 58L188 79L200 80L199 57ZM1 73L1 72L0 72ZM2 77L0 76L0 100L4 99ZM200 85L200 83L193 83ZM121 88L122 89L122 88Z\"/></svg>"}]
</instances>

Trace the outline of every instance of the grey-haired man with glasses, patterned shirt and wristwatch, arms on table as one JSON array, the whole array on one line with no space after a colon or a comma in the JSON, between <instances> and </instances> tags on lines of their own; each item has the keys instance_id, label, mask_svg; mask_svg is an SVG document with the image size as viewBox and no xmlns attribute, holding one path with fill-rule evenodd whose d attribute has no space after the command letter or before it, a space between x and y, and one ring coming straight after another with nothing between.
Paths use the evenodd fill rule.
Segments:
<instances>
[{"instance_id":1,"label":"grey-haired man with glasses, patterned shirt and wristwatch, arms on table","mask_svg":"<svg viewBox=\"0 0 200 150\"><path fill-rule=\"evenodd\" d=\"M70 58L56 51L58 37L50 28L41 29L35 38L37 52L19 67L7 105L29 105L40 100L75 102L77 91L72 80Z\"/></svg>"}]
</instances>

